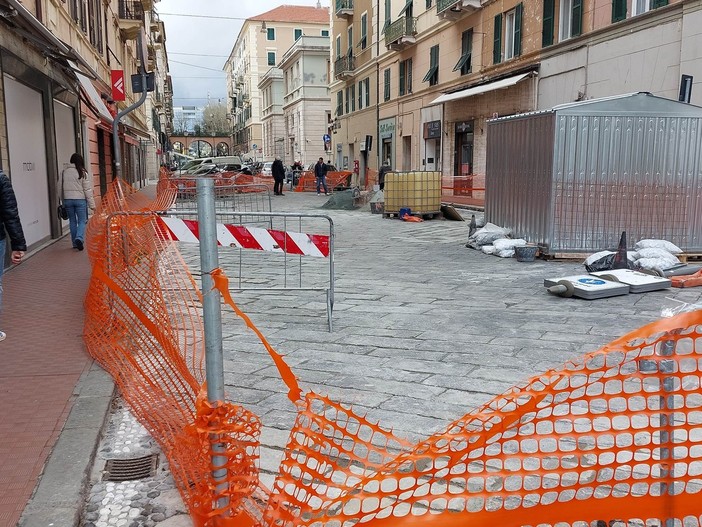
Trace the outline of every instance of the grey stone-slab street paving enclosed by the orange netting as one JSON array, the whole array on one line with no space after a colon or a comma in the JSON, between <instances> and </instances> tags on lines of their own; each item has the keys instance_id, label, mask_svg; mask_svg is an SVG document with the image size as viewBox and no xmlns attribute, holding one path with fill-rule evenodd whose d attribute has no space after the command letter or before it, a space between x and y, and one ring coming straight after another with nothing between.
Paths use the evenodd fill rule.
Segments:
<instances>
[{"instance_id":1,"label":"grey stone-slab street paving enclosed by the orange netting","mask_svg":"<svg viewBox=\"0 0 702 527\"><path fill-rule=\"evenodd\" d=\"M659 318L666 297L701 298L694 289L597 301L554 297L544 278L582 272L580 263L487 256L464 246L467 223L320 209L325 201L286 193L275 198L274 210L333 218L334 331L327 331L323 292L243 291L234 298L286 356L303 388L353 405L407 439L425 437L517 381ZM304 220L296 227L310 232L323 225ZM197 272L197 246L182 252ZM300 276L303 287L324 287L328 272L324 259L248 251L240 262L232 249L222 249L220 264L232 282L241 276L261 287L299 285ZM294 408L266 351L227 307L223 338L227 396L262 419L262 480L270 485ZM150 525L135 525L142 524Z\"/></svg>"}]
</instances>

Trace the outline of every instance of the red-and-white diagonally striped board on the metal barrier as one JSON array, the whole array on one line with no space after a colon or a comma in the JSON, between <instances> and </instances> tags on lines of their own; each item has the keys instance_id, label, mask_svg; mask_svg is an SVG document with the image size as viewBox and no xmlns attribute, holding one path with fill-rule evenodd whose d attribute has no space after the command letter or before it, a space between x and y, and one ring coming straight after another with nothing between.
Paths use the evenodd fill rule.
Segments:
<instances>
[{"instance_id":1,"label":"red-and-white diagonally striped board on the metal barrier","mask_svg":"<svg viewBox=\"0 0 702 527\"><path fill-rule=\"evenodd\" d=\"M159 216L158 236L162 240L200 243L198 222ZM329 236L277 231L242 225L217 224L217 244L241 249L273 251L305 256L329 256Z\"/></svg>"}]
</instances>

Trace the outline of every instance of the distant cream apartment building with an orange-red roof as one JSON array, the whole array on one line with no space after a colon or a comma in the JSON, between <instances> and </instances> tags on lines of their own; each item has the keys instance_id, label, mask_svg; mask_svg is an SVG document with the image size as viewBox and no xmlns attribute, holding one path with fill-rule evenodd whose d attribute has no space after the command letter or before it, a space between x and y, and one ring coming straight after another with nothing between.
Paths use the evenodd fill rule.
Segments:
<instances>
[{"instance_id":1,"label":"distant cream apartment building with an orange-red roof","mask_svg":"<svg viewBox=\"0 0 702 527\"><path fill-rule=\"evenodd\" d=\"M274 142L263 142L263 101L259 83L285 52L303 36L329 37L329 10L321 7L282 5L248 18L224 65L227 74L235 153L252 158L275 155ZM255 145L255 146L254 146Z\"/></svg>"}]
</instances>

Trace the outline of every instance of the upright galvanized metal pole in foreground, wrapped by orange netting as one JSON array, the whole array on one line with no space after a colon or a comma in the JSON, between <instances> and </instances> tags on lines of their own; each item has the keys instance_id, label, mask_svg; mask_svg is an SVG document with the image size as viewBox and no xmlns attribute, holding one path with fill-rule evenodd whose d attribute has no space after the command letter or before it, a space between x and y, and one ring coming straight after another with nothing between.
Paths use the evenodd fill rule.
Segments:
<instances>
[{"instance_id":1,"label":"upright galvanized metal pole in foreground, wrapped by orange netting","mask_svg":"<svg viewBox=\"0 0 702 527\"><path fill-rule=\"evenodd\" d=\"M217 253L217 221L215 213L214 179L199 178L197 189L197 219L200 228L200 269L202 270L202 311L205 326L205 374L207 400L216 404L224 401L224 362L222 354L222 300L214 288L212 271L219 267ZM212 476L218 495L226 495L227 458L219 436L212 435ZM217 508L224 508L228 497L219 498Z\"/></svg>"}]
</instances>

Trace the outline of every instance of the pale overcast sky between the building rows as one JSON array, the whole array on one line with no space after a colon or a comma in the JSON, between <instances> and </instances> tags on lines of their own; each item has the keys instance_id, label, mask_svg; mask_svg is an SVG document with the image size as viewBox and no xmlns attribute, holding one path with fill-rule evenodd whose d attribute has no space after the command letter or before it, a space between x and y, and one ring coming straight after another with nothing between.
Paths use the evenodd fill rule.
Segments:
<instances>
[{"instance_id":1,"label":"pale overcast sky between the building rows","mask_svg":"<svg viewBox=\"0 0 702 527\"><path fill-rule=\"evenodd\" d=\"M225 102L222 71L243 21L280 5L317 5L317 0L161 0L156 10L166 27L173 106ZM329 0L321 0L329 7Z\"/></svg>"}]
</instances>

